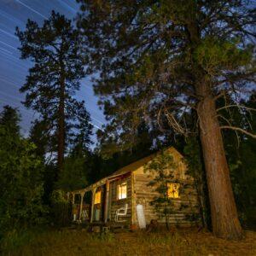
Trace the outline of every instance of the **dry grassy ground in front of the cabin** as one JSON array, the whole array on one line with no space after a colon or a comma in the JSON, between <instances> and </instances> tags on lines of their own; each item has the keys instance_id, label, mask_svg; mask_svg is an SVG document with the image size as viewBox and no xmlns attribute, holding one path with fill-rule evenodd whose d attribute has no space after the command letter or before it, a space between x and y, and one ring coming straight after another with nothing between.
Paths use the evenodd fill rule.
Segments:
<instances>
[{"instance_id":1,"label":"dry grassy ground in front of the cabin","mask_svg":"<svg viewBox=\"0 0 256 256\"><path fill-rule=\"evenodd\" d=\"M86 230L49 230L8 255L256 255L256 232L242 241L224 241L209 232L176 230L92 234Z\"/></svg>"}]
</instances>

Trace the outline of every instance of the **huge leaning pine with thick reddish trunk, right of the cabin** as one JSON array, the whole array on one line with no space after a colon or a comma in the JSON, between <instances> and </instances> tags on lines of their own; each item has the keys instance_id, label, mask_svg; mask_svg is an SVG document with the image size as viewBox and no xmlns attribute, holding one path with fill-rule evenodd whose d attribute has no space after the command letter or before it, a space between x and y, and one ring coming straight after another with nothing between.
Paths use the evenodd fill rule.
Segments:
<instances>
[{"instance_id":1,"label":"huge leaning pine with thick reddish trunk, right of the cabin","mask_svg":"<svg viewBox=\"0 0 256 256\"><path fill-rule=\"evenodd\" d=\"M96 94L112 125L108 136L133 132L142 121L162 129L168 123L188 136L183 117L194 109L212 230L219 237L240 239L222 130L255 135L223 119L215 102L220 97L239 102L253 88L253 1L78 2L78 26L97 72ZM228 101L224 106L234 107L247 110Z\"/></svg>"}]
</instances>

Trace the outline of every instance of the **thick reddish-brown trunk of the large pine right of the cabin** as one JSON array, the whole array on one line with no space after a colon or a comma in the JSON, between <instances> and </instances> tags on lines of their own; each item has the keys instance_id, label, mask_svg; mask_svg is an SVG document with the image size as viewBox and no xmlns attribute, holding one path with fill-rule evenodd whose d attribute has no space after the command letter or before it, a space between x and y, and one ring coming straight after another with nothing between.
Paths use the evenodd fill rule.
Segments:
<instances>
[{"instance_id":1,"label":"thick reddish-brown trunk of the large pine right of the cabin","mask_svg":"<svg viewBox=\"0 0 256 256\"><path fill-rule=\"evenodd\" d=\"M198 85L201 96L197 113L200 122L201 145L207 172L211 204L212 230L215 236L239 240L242 236L236 203L231 187L222 134L218 124L215 101L210 85Z\"/></svg>"}]
</instances>

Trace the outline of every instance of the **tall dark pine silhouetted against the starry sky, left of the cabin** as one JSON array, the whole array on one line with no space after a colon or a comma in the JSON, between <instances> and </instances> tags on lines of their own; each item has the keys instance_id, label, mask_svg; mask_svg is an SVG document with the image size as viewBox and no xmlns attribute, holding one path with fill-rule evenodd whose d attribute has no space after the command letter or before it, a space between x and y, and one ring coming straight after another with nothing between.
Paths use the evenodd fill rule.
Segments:
<instances>
[{"instance_id":1,"label":"tall dark pine silhouetted against the starry sky, left of the cabin","mask_svg":"<svg viewBox=\"0 0 256 256\"><path fill-rule=\"evenodd\" d=\"M21 32L17 28L16 34L20 38L21 58L34 64L29 69L26 84L20 89L26 92L24 104L40 113L36 124L43 120L44 135L51 142L49 150L57 153L61 172L67 145L76 137L77 125L83 123L86 126L87 137L91 131L84 102L75 98L80 80L84 78L81 38L72 21L54 11L48 20L44 20L43 26L28 20L26 30Z\"/></svg>"}]
</instances>

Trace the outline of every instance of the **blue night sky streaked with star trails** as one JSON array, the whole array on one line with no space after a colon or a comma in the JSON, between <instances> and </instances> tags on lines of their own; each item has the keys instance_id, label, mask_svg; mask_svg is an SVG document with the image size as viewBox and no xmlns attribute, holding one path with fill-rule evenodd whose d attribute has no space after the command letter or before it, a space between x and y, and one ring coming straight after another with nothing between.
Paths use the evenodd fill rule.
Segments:
<instances>
[{"instance_id":1,"label":"blue night sky streaked with star trails","mask_svg":"<svg viewBox=\"0 0 256 256\"><path fill-rule=\"evenodd\" d=\"M17 49L20 43L15 36L15 27L19 26L23 30L27 19L42 25L53 9L73 20L79 5L75 0L0 0L0 111L7 104L19 108L21 131L25 136L37 114L20 103L25 94L20 94L19 89L24 84L32 63L20 60L20 51ZM78 98L85 101L96 131L105 119L97 106L90 78L81 81Z\"/></svg>"}]
</instances>

